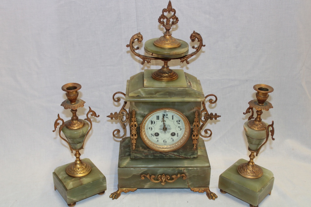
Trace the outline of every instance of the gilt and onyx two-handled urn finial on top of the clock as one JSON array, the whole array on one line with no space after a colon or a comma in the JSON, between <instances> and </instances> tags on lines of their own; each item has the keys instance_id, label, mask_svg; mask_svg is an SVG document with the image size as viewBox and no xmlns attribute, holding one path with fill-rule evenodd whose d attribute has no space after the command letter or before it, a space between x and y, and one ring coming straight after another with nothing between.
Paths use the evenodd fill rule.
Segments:
<instances>
[{"instance_id":1,"label":"gilt and onyx two-handled urn finial on top of the clock","mask_svg":"<svg viewBox=\"0 0 311 207\"><path fill-rule=\"evenodd\" d=\"M173 14L167 17L164 14L166 12L168 14L172 12ZM192 52L191 54L188 54L188 47L189 47L188 43L182 40L179 41L175 39L174 37L172 37L172 34L170 33L169 30L171 29L173 25L177 24L179 21L178 17L175 14L176 14L176 10L172 8L172 4L169 1L167 8L164 8L162 10L162 14L158 19L158 22L166 30L164 33L164 36L153 41L152 45L154 45L155 48L153 48L152 50L151 50L152 46L149 45L147 47L145 44L145 51L151 56L144 56L144 55L141 55L135 52L135 50L138 50L139 47L135 48L133 46L133 43L135 42L135 40L137 40L137 42L140 44L143 40L142 34L140 34L140 32L137 34L134 34L132 38L130 39L130 43L126 45L126 47L130 47L130 50L134 55L142 59L142 62L141 62L142 65L145 62L150 63L151 60L161 60L164 62L164 65L162 66L162 68L152 74L152 78L156 80L160 80L160 81L176 80L178 78L178 74L169 68L168 62L171 60L179 59L180 62L186 61L186 63L189 64L188 59L194 56L195 54L197 54L201 50L202 47L205 47L205 45L203 44L201 35L195 31L193 31L193 33L190 35L190 39L191 39L191 42L194 42L195 39L197 39L197 42L199 43L199 45L197 47L194 47L194 46L192 47L196 51ZM164 23L164 20L166 20L165 23ZM173 21L171 22L171 20ZM151 41L151 40L148 40L148 41Z\"/></svg>"}]
</instances>

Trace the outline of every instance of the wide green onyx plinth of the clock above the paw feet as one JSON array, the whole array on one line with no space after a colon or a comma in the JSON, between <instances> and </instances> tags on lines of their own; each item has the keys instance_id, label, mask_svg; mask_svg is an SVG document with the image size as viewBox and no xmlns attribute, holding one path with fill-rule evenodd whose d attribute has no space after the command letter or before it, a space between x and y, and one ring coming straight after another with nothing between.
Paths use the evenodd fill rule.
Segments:
<instances>
[{"instance_id":1,"label":"wide green onyx plinth of the clock above the paw feet","mask_svg":"<svg viewBox=\"0 0 311 207\"><path fill-rule=\"evenodd\" d=\"M125 137L120 143L118 163L119 188L192 188L209 187L211 167L202 138L199 138L197 158L185 159L131 159L130 137ZM142 174L150 176L160 174L185 174L187 179L179 177L175 182L151 182L148 178L141 179ZM172 178L171 178L172 179Z\"/></svg>"}]
</instances>

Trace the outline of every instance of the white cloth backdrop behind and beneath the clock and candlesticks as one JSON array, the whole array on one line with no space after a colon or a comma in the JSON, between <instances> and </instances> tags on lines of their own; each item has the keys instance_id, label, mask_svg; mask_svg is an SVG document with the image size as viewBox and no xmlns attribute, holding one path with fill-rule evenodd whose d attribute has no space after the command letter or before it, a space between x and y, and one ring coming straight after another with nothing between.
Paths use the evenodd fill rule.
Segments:
<instances>
[{"instance_id":1,"label":"white cloth backdrop behind and beneath the clock and candlesticks","mask_svg":"<svg viewBox=\"0 0 311 207\"><path fill-rule=\"evenodd\" d=\"M141 32L143 43L160 37L157 22L168 0L4 0L0 2L1 173L0 206L66 206L53 190L53 170L74 160L65 142L53 133L66 98L61 86L82 85L86 101L78 116L91 106L100 115L81 158L90 158L107 178L104 195L77 206L248 206L221 194L219 175L240 158L248 159L243 115L255 98L253 85L274 88L263 120L274 120L271 138L255 163L275 176L272 195L260 206L308 206L311 170L311 2L173 0L179 23L173 36L191 46L195 30L203 38L201 52L190 64L169 62L202 83L205 95L218 97L209 112L221 115L209 121L213 132L205 145L211 163L211 191L218 198L190 189L138 189L109 199L117 190L119 141L112 131L121 128L106 116L120 110L114 92L125 92L126 80L143 69L158 69L161 61L141 65L125 47ZM139 45L143 52L143 43ZM190 48L190 52L194 51Z\"/></svg>"}]
</instances>

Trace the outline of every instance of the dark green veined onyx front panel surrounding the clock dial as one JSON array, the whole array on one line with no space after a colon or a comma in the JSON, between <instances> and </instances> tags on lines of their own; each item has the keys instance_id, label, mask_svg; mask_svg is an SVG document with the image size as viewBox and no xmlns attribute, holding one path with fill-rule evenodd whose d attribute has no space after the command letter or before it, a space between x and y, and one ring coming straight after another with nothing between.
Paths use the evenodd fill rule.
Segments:
<instances>
[{"instance_id":1,"label":"dark green veined onyx front panel surrounding the clock dial","mask_svg":"<svg viewBox=\"0 0 311 207\"><path fill-rule=\"evenodd\" d=\"M136 121L138 126L142 123L142 120L145 118L147 114L151 111L159 108L172 108L179 110L185 115L190 123L190 136L187 142L178 150L172 152L157 152L150 149L146 144L142 141L140 136L140 127L137 127L137 140L136 140L136 148L132 149L131 143L131 158L196 158L197 157L197 149L193 150L193 122L195 118L195 112L198 111L200 115L201 111L201 102L138 102L131 101L129 107L129 120L132 119L132 110L136 112Z\"/></svg>"}]
</instances>

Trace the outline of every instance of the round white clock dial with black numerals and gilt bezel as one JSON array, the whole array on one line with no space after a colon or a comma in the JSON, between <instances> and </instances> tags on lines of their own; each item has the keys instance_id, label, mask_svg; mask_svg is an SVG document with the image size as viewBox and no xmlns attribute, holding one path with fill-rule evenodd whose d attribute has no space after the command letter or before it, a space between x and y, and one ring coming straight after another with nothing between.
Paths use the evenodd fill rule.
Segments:
<instances>
[{"instance_id":1,"label":"round white clock dial with black numerals and gilt bezel","mask_svg":"<svg viewBox=\"0 0 311 207\"><path fill-rule=\"evenodd\" d=\"M188 119L174 109L163 108L149 113L141 124L141 137L155 151L170 152L182 147L189 138Z\"/></svg>"}]
</instances>

